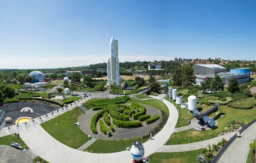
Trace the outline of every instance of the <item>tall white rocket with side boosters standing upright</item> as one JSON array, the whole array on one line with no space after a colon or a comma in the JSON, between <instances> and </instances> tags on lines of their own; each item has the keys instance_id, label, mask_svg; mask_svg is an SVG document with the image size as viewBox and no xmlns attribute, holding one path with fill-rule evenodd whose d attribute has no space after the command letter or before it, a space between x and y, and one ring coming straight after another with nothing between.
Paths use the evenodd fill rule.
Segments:
<instances>
[{"instance_id":1,"label":"tall white rocket with side boosters standing upright","mask_svg":"<svg viewBox=\"0 0 256 163\"><path fill-rule=\"evenodd\" d=\"M112 83L115 83L116 86L120 86L117 40L114 40L113 37L110 40L110 56L107 61L107 73L108 73L107 86L110 86Z\"/></svg>"}]
</instances>

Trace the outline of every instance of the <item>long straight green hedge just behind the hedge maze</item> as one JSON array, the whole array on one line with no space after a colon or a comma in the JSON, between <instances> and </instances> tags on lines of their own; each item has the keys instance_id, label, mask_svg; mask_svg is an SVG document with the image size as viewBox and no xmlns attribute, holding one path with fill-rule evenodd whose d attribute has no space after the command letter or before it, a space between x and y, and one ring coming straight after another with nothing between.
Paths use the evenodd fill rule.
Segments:
<instances>
[{"instance_id":1,"label":"long straight green hedge just behind the hedge maze","mask_svg":"<svg viewBox=\"0 0 256 163\"><path fill-rule=\"evenodd\" d=\"M94 106L108 105L108 104L122 104L125 103L130 98L128 96L121 96L120 98L114 99L101 99L95 102L91 102Z\"/></svg>"}]
</instances>

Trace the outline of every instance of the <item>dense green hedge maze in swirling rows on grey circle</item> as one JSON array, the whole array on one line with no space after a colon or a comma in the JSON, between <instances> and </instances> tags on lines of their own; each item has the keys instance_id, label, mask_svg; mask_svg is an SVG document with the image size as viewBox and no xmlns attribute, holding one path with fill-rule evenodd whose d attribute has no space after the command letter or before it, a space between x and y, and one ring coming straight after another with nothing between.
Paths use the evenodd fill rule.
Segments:
<instances>
[{"instance_id":1,"label":"dense green hedge maze in swirling rows on grey circle","mask_svg":"<svg viewBox=\"0 0 256 163\"><path fill-rule=\"evenodd\" d=\"M99 104L94 105L92 110L100 110L97 114L92 117L91 120L91 130L94 134L97 134L96 123L99 121L99 127L104 134L109 132L111 136L111 131L114 132L114 126L120 128L136 128L142 127L142 121L146 120L146 124L153 123L159 119L159 115L155 115L150 118L150 115L146 114L146 108L137 103L132 103L130 106L125 104L106 104L99 106ZM104 119L104 123L100 118ZM110 117L113 119L113 124L110 123ZM137 120L139 121L132 121ZM110 126L110 130L105 126Z\"/></svg>"}]
</instances>

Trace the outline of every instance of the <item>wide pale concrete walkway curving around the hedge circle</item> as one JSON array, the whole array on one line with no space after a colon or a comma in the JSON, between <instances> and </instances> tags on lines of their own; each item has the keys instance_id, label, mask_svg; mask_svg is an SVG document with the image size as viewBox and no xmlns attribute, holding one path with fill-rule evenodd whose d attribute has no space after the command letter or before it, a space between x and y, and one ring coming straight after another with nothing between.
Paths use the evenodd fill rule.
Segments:
<instances>
[{"instance_id":1,"label":"wide pale concrete walkway curving around the hedge circle","mask_svg":"<svg viewBox=\"0 0 256 163\"><path fill-rule=\"evenodd\" d=\"M170 116L162 130L154 136L154 139L143 144L145 148L144 157L148 157L162 147L162 144L169 139L174 131L178 120L178 111L174 105L165 99L163 99L163 102L167 105ZM40 125L32 130L22 131L20 137L33 152L48 162L132 162L129 151L97 154L70 148L51 137Z\"/></svg>"}]
</instances>

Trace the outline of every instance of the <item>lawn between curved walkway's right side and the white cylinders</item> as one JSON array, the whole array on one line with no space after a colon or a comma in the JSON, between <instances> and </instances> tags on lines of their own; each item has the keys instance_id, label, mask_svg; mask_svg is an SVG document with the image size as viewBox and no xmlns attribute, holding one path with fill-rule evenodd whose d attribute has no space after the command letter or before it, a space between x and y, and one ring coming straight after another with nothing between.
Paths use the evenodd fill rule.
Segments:
<instances>
[{"instance_id":1,"label":"lawn between curved walkway's right side and the white cylinders","mask_svg":"<svg viewBox=\"0 0 256 163\"><path fill-rule=\"evenodd\" d=\"M166 100L169 101L169 97L167 97ZM172 99L171 99L171 103L173 103L174 106L177 105L175 102L172 102ZM178 117L178 121L177 121L177 124L176 124L176 128L189 125L188 122L187 122L187 118L189 118L189 119L191 120L191 119L194 118L193 115L187 113L187 112L188 112L188 109L182 109L182 108L180 107L180 105L177 105L176 108L177 108L177 110L180 110L180 111L179 111L179 115L180 115L180 116ZM179 123L178 123L178 122L179 122Z\"/></svg>"}]
</instances>

